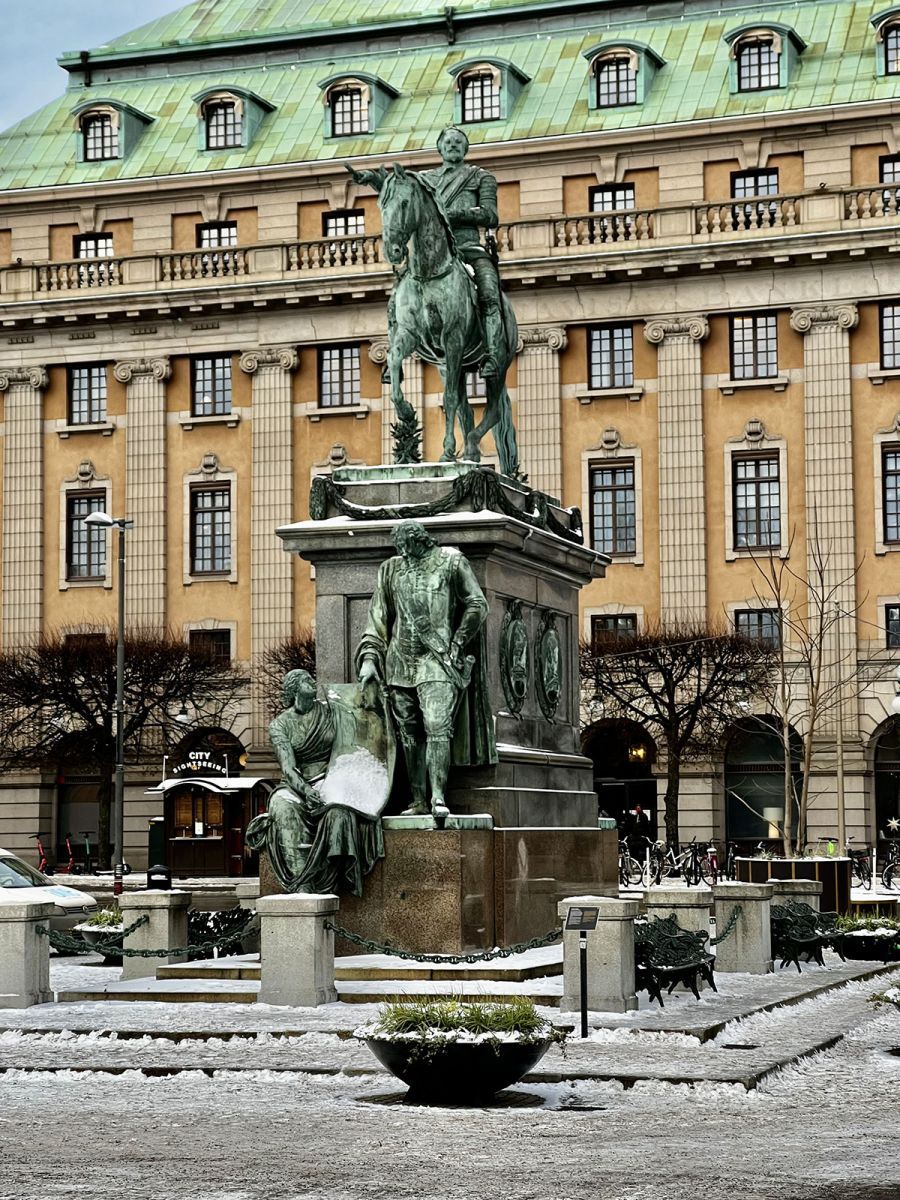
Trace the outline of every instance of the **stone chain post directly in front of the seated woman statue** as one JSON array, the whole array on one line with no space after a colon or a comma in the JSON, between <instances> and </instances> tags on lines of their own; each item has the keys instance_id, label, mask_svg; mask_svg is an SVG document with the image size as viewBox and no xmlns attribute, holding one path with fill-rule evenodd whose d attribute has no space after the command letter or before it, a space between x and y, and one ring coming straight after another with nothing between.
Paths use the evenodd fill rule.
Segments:
<instances>
[{"instance_id":1,"label":"stone chain post directly in front of the seated woman statue","mask_svg":"<svg viewBox=\"0 0 900 1200\"><path fill-rule=\"evenodd\" d=\"M325 922L336 895L274 895L257 904L262 967L259 1002L314 1008L337 1000L335 935Z\"/></svg>"}]
</instances>

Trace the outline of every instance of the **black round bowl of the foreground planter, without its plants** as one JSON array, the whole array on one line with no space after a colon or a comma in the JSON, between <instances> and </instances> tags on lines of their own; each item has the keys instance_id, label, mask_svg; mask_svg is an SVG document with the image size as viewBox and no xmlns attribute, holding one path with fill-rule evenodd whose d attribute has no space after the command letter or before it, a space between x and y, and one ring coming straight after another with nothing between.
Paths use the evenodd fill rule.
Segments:
<instances>
[{"instance_id":1,"label":"black round bowl of the foreground planter, without its plants","mask_svg":"<svg viewBox=\"0 0 900 1200\"><path fill-rule=\"evenodd\" d=\"M550 1042L450 1042L421 1055L421 1043L366 1038L376 1058L409 1086L410 1099L482 1103L517 1084L550 1048Z\"/></svg>"}]
</instances>

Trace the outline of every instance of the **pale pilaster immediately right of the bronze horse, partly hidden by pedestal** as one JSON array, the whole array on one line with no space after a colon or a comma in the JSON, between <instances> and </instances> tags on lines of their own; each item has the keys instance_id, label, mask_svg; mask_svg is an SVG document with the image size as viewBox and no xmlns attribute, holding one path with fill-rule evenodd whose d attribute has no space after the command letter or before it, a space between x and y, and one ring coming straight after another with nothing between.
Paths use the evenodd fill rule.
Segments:
<instances>
[{"instance_id":1,"label":"pale pilaster immediately right of the bronze horse, partly hidden by pedestal","mask_svg":"<svg viewBox=\"0 0 900 1200\"><path fill-rule=\"evenodd\" d=\"M518 452L533 487L563 494L559 413L559 354L565 330L530 326L518 331Z\"/></svg>"}]
</instances>

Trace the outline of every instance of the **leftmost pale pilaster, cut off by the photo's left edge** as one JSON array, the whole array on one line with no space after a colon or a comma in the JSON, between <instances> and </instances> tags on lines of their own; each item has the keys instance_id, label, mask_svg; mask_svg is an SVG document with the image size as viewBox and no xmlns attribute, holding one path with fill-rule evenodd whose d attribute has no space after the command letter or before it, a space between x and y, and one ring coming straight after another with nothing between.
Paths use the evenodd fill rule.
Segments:
<instances>
[{"instance_id":1,"label":"leftmost pale pilaster, cut off by the photo's left edge","mask_svg":"<svg viewBox=\"0 0 900 1200\"><path fill-rule=\"evenodd\" d=\"M11 649L41 634L43 617L43 431L47 371L0 367L5 392L2 640Z\"/></svg>"}]
</instances>

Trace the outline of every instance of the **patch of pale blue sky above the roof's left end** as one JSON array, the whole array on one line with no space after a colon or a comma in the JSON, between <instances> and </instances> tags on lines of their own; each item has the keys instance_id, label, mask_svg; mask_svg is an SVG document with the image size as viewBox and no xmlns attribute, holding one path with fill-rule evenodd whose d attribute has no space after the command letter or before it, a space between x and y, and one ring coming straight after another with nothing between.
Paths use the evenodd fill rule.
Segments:
<instances>
[{"instance_id":1,"label":"patch of pale blue sky above the roof's left end","mask_svg":"<svg viewBox=\"0 0 900 1200\"><path fill-rule=\"evenodd\" d=\"M137 29L188 0L8 0L0 4L4 67L0 130L34 113L66 89L56 66L64 50L89 50Z\"/></svg>"}]
</instances>

